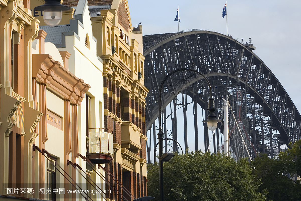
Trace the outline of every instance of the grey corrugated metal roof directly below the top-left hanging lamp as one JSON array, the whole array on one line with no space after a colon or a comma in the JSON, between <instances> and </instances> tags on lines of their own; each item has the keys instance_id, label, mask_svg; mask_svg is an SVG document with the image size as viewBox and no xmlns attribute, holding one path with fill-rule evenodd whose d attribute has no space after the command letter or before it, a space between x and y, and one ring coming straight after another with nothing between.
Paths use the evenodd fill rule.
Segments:
<instances>
[{"instance_id":1,"label":"grey corrugated metal roof directly below the top-left hanging lamp","mask_svg":"<svg viewBox=\"0 0 301 201\"><path fill-rule=\"evenodd\" d=\"M62 33L70 31L70 24L62 24L55 27L39 26L39 29L47 32L45 42L51 42L54 45L58 45L62 44Z\"/></svg>"}]
</instances>

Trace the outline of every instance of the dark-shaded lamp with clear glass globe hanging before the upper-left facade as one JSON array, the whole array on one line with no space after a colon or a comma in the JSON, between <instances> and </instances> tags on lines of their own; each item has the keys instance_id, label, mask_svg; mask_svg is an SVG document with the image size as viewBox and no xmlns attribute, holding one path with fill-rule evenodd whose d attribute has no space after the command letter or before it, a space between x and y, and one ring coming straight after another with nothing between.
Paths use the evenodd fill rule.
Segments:
<instances>
[{"instance_id":1,"label":"dark-shaded lamp with clear glass globe hanging before the upper-left facade","mask_svg":"<svg viewBox=\"0 0 301 201\"><path fill-rule=\"evenodd\" d=\"M62 20L62 11L67 11L71 8L62 5L60 0L45 0L45 4L34 9L36 11L44 11L44 22L50 27L55 27Z\"/></svg>"}]
</instances>

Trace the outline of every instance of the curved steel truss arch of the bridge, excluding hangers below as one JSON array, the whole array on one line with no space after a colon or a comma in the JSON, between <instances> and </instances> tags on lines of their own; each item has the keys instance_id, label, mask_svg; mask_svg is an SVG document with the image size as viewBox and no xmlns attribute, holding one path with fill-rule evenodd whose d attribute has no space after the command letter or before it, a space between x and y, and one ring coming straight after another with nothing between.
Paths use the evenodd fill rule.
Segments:
<instances>
[{"instance_id":1,"label":"curved steel truss arch of the bridge, excluding hangers below","mask_svg":"<svg viewBox=\"0 0 301 201\"><path fill-rule=\"evenodd\" d=\"M240 103L234 103L237 101L234 97L232 104L235 112L240 108L240 118L250 122L251 130L248 134L256 145L256 151L275 156L279 153L281 144L300 139L299 112L281 83L250 49L228 36L209 31L171 33L170 37L164 34L165 39L161 41L160 37L160 34L152 35L151 38L143 36L144 44L149 44L151 40L157 42L144 51L144 83L149 90L146 97L146 130L158 118L158 86L164 77L179 68L193 68L205 74L211 82L218 111L222 110L222 98L231 93L237 97L240 94ZM166 86L177 94L183 91L183 87L187 89L194 83L191 86L193 90L188 95L193 98L200 94L203 99L197 100L197 103L206 109L206 83L199 77L192 76L189 83L176 85L183 77L180 73L173 75ZM165 108L175 97L168 87L163 93ZM278 133L275 134L273 130ZM254 154L253 152L252 155Z\"/></svg>"}]
</instances>

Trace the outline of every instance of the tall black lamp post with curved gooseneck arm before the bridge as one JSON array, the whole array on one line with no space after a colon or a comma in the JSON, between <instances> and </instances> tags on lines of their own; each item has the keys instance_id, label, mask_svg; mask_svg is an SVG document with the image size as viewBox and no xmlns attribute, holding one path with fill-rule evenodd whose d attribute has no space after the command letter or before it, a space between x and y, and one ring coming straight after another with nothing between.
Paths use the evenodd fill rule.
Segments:
<instances>
[{"instance_id":1,"label":"tall black lamp post with curved gooseneck arm before the bridge","mask_svg":"<svg viewBox=\"0 0 301 201\"><path fill-rule=\"evenodd\" d=\"M164 196L163 196L163 162L168 161L169 159L171 159L173 156L170 155L169 153L165 153L163 154L163 131L161 128L161 115L162 115L162 110L161 110L161 92L163 90L163 86L165 81L173 74L181 72L181 71L193 71L194 73L197 73L199 75L201 75L207 82L208 86L209 86L209 92L210 92L210 97L208 99L208 118L207 120L203 121L204 123L207 123L208 129L209 130L215 130L217 128L217 123L222 121L216 118L215 115L215 104L214 104L214 98L212 98L212 89L211 89L211 85L209 83L209 80L199 71L196 71L194 69L189 69L189 68L181 68L181 69L177 69L175 71L172 71L171 73L169 73L162 81L160 88L159 88L159 100L158 100L158 104L159 104L159 129L158 129L158 144L159 144L159 174L160 174L160 201L164 200Z\"/></svg>"}]
</instances>

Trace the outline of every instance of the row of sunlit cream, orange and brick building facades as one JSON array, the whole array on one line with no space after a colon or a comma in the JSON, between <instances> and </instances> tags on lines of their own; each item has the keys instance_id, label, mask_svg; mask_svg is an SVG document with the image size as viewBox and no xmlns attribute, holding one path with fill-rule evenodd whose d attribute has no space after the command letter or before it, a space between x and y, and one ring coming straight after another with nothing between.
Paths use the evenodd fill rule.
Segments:
<instances>
[{"instance_id":1,"label":"row of sunlit cream, orange and brick building facades","mask_svg":"<svg viewBox=\"0 0 301 201\"><path fill-rule=\"evenodd\" d=\"M42 26L42 3L1 0L0 199L146 196L142 26L126 0L64 1Z\"/></svg>"}]
</instances>

